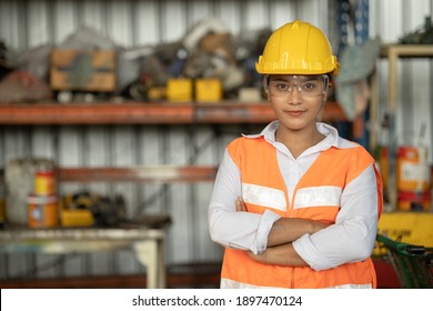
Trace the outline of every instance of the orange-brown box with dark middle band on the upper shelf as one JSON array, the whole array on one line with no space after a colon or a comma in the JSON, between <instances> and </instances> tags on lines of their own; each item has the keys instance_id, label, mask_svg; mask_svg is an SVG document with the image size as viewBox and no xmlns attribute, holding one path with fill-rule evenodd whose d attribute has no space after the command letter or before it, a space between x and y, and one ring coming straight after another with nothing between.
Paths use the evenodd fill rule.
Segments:
<instances>
[{"instance_id":1,"label":"orange-brown box with dark middle band on the upper shelf","mask_svg":"<svg viewBox=\"0 0 433 311\"><path fill-rule=\"evenodd\" d=\"M114 91L115 52L53 50L50 86L57 91Z\"/></svg>"}]
</instances>

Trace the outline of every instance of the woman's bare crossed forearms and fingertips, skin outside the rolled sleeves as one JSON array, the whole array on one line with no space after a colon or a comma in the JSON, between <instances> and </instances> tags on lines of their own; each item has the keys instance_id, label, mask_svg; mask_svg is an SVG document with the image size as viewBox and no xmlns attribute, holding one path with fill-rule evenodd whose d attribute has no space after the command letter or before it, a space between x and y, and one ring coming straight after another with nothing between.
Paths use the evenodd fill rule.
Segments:
<instances>
[{"instance_id":1,"label":"woman's bare crossed forearms and fingertips, skin outside the rolled sleeves","mask_svg":"<svg viewBox=\"0 0 433 311\"><path fill-rule=\"evenodd\" d=\"M241 198L236 200L236 211L246 212L245 203ZM268 237L268 248L261 254L248 252L248 254L265 264L308 267L306 262L296 253L292 241L305 233L315 233L326 228L328 223L300 218L280 218L274 222Z\"/></svg>"}]
</instances>

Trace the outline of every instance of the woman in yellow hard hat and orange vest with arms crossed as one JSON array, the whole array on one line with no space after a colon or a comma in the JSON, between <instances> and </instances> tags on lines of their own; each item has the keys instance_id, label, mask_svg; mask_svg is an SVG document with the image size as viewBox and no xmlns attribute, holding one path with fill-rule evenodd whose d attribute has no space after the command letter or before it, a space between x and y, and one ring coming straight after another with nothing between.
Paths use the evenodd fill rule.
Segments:
<instances>
[{"instance_id":1,"label":"woman in yellow hard hat and orange vest with arms crossed","mask_svg":"<svg viewBox=\"0 0 433 311\"><path fill-rule=\"evenodd\" d=\"M382 182L361 146L320 122L339 62L295 20L256 63L276 121L229 143L209 205L221 288L375 288Z\"/></svg>"}]
</instances>

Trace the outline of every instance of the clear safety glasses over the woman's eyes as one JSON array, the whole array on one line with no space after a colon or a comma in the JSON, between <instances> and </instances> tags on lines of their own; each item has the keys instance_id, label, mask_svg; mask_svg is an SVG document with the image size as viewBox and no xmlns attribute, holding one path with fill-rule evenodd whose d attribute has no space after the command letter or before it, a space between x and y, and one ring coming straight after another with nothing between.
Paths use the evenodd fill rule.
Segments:
<instances>
[{"instance_id":1,"label":"clear safety glasses over the woman's eyes","mask_svg":"<svg viewBox=\"0 0 433 311\"><path fill-rule=\"evenodd\" d=\"M316 97L328 90L329 79L322 76L270 76L265 77L264 90L274 97L285 97L295 89L302 97Z\"/></svg>"}]
</instances>

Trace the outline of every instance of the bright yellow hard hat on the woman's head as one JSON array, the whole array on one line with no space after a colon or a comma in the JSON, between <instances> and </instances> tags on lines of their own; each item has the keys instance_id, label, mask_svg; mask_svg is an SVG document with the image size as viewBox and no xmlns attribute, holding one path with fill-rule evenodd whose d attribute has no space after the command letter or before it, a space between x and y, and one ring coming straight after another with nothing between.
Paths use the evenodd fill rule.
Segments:
<instances>
[{"instance_id":1,"label":"bright yellow hard hat on the woman's head","mask_svg":"<svg viewBox=\"0 0 433 311\"><path fill-rule=\"evenodd\" d=\"M276 29L255 69L262 74L336 74L339 61L326 36L316 27L295 20Z\"/></svg>"}]
</instances>

